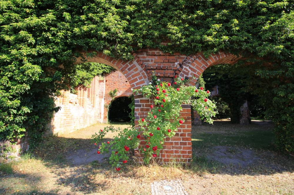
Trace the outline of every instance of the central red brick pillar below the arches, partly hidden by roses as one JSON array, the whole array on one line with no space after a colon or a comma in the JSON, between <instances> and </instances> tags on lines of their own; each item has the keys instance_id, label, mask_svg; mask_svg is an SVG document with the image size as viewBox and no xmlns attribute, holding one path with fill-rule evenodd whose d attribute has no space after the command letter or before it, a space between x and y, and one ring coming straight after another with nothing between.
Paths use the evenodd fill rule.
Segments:
<instances>
[{"instance_id":1,"label":"central red brick pillar below the arches, partly hidden by roses","mask_svg":"<svg viewBox=\"0 0 294 195\"><path fill-rule=\"evenodd\" d=\"M150 111L153 100L143 98L141 95L135 96L135 124L138 124L140 118L146 117ZM163 150L160 151L158 160L161 163L170 161L188 163L192 159L192 141L191 141L191 105L182 105L180 117L185 122L178 128L178 132L172 138L166 137ZM143 136L139 147L145 145ZM140 160L139 150L135 150L136 157Z\"/></svg>"}]
</instances>

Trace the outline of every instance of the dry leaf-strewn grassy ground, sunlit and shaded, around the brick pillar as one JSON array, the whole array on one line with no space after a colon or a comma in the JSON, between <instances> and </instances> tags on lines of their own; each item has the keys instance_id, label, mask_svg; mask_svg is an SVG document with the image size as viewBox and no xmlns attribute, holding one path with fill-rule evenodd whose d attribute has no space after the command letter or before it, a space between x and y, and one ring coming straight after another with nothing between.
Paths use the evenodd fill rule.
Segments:
<instances>
[{"instance_id":1,"label":"dry leaf-strewn grassy ground, sunlit and shaded, around the brick pillar","mask_svg":"<svg viewBox=\"0 0 294 195\"><path fill-rule=\"evenodd\" d=\"M273 150L273 124L268 121L193 126L191 165L130 163L122 172L98 158L91 143L91 135L106 125L48 136L34 153L1 163L0 194L141 195L151 194L150 184L163 179L181 180L189 194L294 194L293 158Z\"/></svg>"}]
</instances>

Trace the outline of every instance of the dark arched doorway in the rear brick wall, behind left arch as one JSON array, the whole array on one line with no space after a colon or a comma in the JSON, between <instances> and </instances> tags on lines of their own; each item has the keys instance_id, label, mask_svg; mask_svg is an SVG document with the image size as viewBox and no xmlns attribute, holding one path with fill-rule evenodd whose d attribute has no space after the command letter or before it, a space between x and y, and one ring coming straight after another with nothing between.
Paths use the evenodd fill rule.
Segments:
<instances>
[{"instance_id":1,"label":"dark arched doorway in the rear brick wall, behind left arch","mask_svg":"<svg viewBox=\"0 0 294 195\"><path fill-rule=\"evenodd\" d=\"M131 108L129 105L132 103L130 97L119 97L111 102L109 107L108 121L110 122L130 122Z\"/></svg>"}]
</instances>

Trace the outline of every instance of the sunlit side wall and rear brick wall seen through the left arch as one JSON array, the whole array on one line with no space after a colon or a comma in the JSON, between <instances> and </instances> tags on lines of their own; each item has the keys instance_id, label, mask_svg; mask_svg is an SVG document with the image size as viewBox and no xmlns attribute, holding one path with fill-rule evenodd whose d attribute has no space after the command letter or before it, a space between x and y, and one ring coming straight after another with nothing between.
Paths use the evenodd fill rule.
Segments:
<instances>
[{"instance_id":1,"label":"sunlit side wall and rear brick wall seen through the left arch","mask_svg":"<svg viewBox=\"0 0 294 195\"><path fill-rule=\"evenodd\" d=\"M96 76L89 88L77 87L77 94L61 91L55 104L61 109L49 124L50 132L63 134L82 129L95 123L107 122L106 104L112 100L108 94L118 89L117 97L130 96L131 86L120 71L111 71L103 77Z\"/></svg>"}]
</instances>

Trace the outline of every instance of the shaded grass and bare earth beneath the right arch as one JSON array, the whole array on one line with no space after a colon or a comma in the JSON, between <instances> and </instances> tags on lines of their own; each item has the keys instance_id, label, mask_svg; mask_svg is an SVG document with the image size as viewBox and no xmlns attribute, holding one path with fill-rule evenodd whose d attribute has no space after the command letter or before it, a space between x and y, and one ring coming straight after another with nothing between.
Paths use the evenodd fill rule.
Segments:
<instances>
[{"instance_id":1,"label":"shaded grass and bare earth beneath the right arch","mask_svg":"<svg viewBox=\"0 0 294 195\"><path fill-rule=\"evenodd\" d=\"M293 171L293 158L274 150L273 123L215 121L192 127L193 156L214 161L218 173L268 175Z\"/></svg>"}]
</instances>

